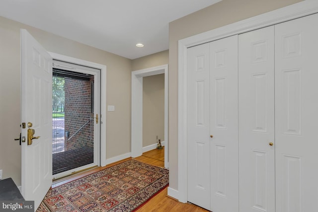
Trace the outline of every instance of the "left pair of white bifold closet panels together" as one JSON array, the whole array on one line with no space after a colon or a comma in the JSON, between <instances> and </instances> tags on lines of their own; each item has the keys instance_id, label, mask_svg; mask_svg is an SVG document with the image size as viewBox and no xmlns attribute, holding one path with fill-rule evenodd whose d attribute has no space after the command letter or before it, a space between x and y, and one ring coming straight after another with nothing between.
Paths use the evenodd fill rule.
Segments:
<instances>
[{"instance_id":1,"label":"left pair of white bifold closet panels together","mask_svg":"<svg viewBox=\"0 0 318 212\"><path fill-rule=\"evenodd\" d=\"M187 51L188 201L238 212L238 36Z\"/></svg>"}]
</instances>

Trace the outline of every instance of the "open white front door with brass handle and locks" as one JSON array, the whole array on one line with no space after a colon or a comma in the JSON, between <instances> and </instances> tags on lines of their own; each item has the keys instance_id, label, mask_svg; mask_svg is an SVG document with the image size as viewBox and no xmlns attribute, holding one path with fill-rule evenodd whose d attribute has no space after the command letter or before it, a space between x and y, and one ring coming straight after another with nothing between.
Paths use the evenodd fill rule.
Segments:
<instances>
[{"instance_id":1,"label":"open white front door with brass handle and locks","mask_svg":"<svg viewBox=\"0 0 318 212\"><path fill-rule=\"evenodd\" d=\"M35 210L52 185L52 62L21 29L21 191Z\"/></svg>"}]
</instances>

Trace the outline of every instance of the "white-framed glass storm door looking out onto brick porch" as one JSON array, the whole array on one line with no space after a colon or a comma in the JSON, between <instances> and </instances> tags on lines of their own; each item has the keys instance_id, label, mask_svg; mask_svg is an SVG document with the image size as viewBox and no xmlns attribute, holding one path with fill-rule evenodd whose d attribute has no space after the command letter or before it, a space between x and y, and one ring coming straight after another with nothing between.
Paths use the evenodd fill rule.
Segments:
<instances>
[{"instance_id":1,"label":"white-framed glass storm door looking out onto brick porch","mask_svg":"<svg viewBox=\"0 0 318 212\"><path fill-rule=\"evenodd\" d=\"M53 62L54 178L97 165L99 74L100 70L61 61Z\"/></svg>"}]
</instances>

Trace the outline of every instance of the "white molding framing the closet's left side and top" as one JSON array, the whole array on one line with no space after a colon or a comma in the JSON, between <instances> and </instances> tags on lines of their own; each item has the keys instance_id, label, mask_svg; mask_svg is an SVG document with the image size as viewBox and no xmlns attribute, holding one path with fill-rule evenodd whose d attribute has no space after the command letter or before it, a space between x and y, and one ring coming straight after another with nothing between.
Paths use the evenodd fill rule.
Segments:
<instances>
[{"instance_id":1,"label":"white molding framing the closet's left side and top","mask_svg":"<svg viewBox=\"0 0 318 212\"><path fill-rule=\"evenodd\" d=\"M304 0L178 41L178 189L168 195L187 202L187 48L318 12L316 0Z\"/></svg>"}]
</instances>

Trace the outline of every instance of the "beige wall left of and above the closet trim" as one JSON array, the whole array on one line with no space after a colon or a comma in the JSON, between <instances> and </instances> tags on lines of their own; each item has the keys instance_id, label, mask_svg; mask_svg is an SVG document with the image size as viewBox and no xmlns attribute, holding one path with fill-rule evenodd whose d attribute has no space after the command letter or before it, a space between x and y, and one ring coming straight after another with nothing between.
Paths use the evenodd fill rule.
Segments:
<instances>
[{"instance_id":1,"label":"beige wall left of and above the closet trim","mask_svg":"<svg viewBox=\"0 0 318 212\"><path fill-rule=\"evenodd\" d=\"M222 0L169 24L169 187L178 189L178 40L302 0Z\"/></svg>"}]
</instances>

